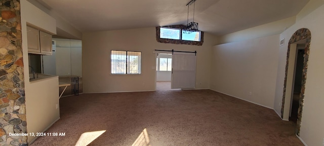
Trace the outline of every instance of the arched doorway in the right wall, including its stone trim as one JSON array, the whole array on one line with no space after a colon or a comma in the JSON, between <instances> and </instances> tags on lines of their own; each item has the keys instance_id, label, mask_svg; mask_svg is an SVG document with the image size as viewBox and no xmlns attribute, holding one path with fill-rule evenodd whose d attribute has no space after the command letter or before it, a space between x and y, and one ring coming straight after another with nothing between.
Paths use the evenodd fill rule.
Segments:
<instances>
[{"instance_id":1,"label":"arched doorway in the right wall, including its stone trim","mask_svg":"<svg viewBox=\"0 0 324 146\"><path fill-rule=\"evenodd\" d=\"M307 28L298 29L290 38L287 50L287 63L286 63L286 70L285 70L285 81L284 81L284 93L282 94L282 104L281 104L281 118L282 119L289 119L292 114L293 108L293 100L294 100L294 86L295 82L300 82L300 94L298 102L295 101L296 107L298 106L297 111L297 128L296 128L296 135L299 136L301 120L302 120L302 112L303 112L303 105L304 105L304 96L305 96L305 84L306 84L306 77L307 77L307 67L308 67L308 57L309 57L309 50L310 50L310 41L311 41L311 33ZM301 81L295 81L295 71L296 71L296 58L298 58L298 49L297 45L303 44L304 49L302 52L303 54L303 64L302 64L302 78ZM297 54L297 55L296 55ZM301 65L301 64L300 64ZM297 79L297 78L296 78ZM297 92L298 94L299 92ZM287 98L286 98L287 97ZM295 107L295 108L296 108ZM295 109L296 110L296 109Z\"/></svg>"}]
</instances>

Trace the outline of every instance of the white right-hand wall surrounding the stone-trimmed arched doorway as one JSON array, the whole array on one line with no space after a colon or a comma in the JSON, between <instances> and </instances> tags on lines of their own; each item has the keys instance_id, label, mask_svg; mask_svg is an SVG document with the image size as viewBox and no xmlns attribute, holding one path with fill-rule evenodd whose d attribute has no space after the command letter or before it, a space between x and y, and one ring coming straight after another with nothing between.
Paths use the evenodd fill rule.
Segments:
<instances>
[{"instance_id":1,"label":"white right-hand wall surrounding the stone-trimmed arched doorway","mask_svg":"<svg viewBox=\"0 0 324 146\"><path fill-rule=\"evenodd\" d=\"M214 47L211 89L263 106L273 107L274 111L280 115L288 41L298 29L308 28L311 31L311 45L300 138L307 145L322 145L324 138L324 125L322 124L324 123L324 114L322 112L324 111L324 106L322 106L324 104L324 98L322 98L322 89L324 88L324 78L322 76L324 74L324 67L322 66L322 62L324 62L323 14L323 2L311 0L296 16L297 22L279 34L279 36L260 35L259 37L261 38L258 39L253 39L254 36L250 37L257 28L263 27L262 25L250 28L250 31L242 30L221 36L220 44L226 42L234 43ZM268 27L271 27L271 25ZM248 40L243 37L244 34L248 34ZM279 40L284 38L285 44L279 46ZM270 48L272 48L272 53L268 52ZM263 52L258 52L259 50ZM261 56L263 58L258 58ZM255 62L259 62L260 66L256 65ZM275 63L278 64L275 65ZM264 66L272 67L264 68ZM276 75L273 74L273 71L276 72ZM252 91L251 96L249 95L250 91ZM253 91L262 94L258 93L259 95L255 96ZM267 97L262 97L263 93ZM290 103L285 102L285 110L289 110L289 107ZM285 111L285 114L284 119L287 120L289 111Z\"/></svg>"}]
</instances>

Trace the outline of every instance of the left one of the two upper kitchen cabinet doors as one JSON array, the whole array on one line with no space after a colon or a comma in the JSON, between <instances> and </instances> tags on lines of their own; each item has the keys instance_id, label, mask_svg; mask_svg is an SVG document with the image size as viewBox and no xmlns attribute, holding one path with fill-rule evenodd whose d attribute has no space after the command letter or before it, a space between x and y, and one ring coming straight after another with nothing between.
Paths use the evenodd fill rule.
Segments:
<instances>
[{"instance_id":1,"label":"left one of the two upper kitchen cabinet doors","mask_svg":"<svg viewBox=\"0 0 324 146\"><path fill-rule=\"evenodd\" d=\"M27 26L27 46L28 52L41 52L39 49L39 31Z\"/></svg>"}]
</instances>

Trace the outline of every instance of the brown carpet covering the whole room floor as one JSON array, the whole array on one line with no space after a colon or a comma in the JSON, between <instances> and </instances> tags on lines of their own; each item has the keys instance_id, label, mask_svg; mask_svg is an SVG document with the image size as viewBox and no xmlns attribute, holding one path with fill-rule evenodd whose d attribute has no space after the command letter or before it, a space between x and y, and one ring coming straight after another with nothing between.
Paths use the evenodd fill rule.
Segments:
<instances>
[{"instance_id":1,"label":"brown carpet covering the whole room floor","mask_svg":"<svg viewBox=\"0 0 324 146\"><path fill-rule=\"evenodd\" d=\"M211 90L81 94L61 98L60 110L47 132L65 136L32 146L303 145L272 109Z\"/></svg>"}]
</instances>

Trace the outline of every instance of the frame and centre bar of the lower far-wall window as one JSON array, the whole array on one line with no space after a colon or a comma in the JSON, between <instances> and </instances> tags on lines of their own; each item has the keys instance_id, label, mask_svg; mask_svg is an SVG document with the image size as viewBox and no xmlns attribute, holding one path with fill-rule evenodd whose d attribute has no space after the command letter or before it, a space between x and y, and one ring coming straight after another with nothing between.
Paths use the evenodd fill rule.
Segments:
<instances>
[{"instance_id":1,"label":"frame and centre bar of the lower far-wall window","mask_svg":"<svg viewBox=\"0 0 324 146\"><path fill-rule=\"evenodd\" d=\"M126 62L125 62L125 73L112 73L112 55L114 55L114 54L112 54L112 51L121 51L121 52L126 52ZM137 73L137 74L132 74L132 73L130 73L131 72L131 70L129 69L130 68L130 66L129 66L129 57L131 56L131 55L129 55L129 52L138 52L138 53L140 53L139 55L139 61L138 61L138 63L137 63L137 66L138 66L138 71L139 71L139 73ZM125 50L110 50L110 75L141 75L142 74L142 52L141 51L125 51Z\"/></svg>"}]
</instances>

